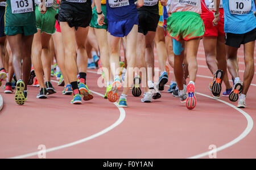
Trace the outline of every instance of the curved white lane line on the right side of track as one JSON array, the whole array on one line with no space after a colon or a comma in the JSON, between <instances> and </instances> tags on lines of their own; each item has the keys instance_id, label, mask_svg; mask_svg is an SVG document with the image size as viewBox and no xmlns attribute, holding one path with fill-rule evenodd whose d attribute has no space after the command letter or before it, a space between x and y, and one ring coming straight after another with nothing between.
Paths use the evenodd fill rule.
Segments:
<instances>
[{"instance_id":1,"label":"curved white lane line on the right side of track","mask_svg":"<svg viewBox=\"0 0 256 170\"><path fill-rule=\"evenodd\" d=\"M167 85L164 85L166 87L169 87ZM205 94L201 94L199 92L196 92L197 95L201 95L201 96L204 96L204 97L208 97L210 99L214 99L213 97L211 96L208 96L208 95L205 95ZM246 120L247 120L247 126L246 126L246 129L241 133L241 135L239 135L239 137L237 137L236 139L234 139L233 141L229 142L229 143L226 143L225 145L222 145L218 148L216 148L216 151L221 151L221 150L224 150L225 148L228 148L230 146L233 146L234 144L240 142L243 138L245 138L251 131L251 129L253 129L253 118L250 117L249 114L247 114L245 111L243 111L242 109L240 108L237 108L236 106L226 102L226 101L223 101L221 99L215 99L215 100L218 100L220 101L221 103L224 103L226 105L228 105L229 107L232 107L234 109L236 109L238 112L242 113L243 116L245 116ZM210 151L207 151L207 152L204 152L203 154L199 154L199 155L195 155L195 156L191 156L189 157L188 159L198 159L198 158L202 158L204 156L208 156L211 152Z\"/></svg>"}]
</instances>

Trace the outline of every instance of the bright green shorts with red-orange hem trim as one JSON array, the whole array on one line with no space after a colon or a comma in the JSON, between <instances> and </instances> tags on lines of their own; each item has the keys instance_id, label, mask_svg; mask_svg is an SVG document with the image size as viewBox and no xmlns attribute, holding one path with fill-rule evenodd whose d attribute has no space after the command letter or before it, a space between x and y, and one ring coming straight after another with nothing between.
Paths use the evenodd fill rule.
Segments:
<instances>
[{"instance_id":1,"label":"bright green shorts with red-orange hem trim","mask_svg":"<svg viewBox=\"0 0 256 170\"><path fill-rule=\"evenodd\" d=\"M177 41L203 37L204 32L204 22L196 12L174 12L167 19L167 33Z\"/></svg>"}]
</instances>

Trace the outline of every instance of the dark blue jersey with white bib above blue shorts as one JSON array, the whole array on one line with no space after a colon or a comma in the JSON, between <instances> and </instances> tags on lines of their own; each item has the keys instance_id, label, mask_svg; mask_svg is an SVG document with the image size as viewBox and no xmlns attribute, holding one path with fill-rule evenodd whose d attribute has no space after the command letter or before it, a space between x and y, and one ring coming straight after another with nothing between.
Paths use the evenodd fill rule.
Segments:
<instances>
[{"instance_id":1,"label":"dark blue jersey with white bib above blue shorts","mask_svg":"<svg viewBox=\"0 0 256 170\"><path fill-rule=\"evenodd\" d=\"M107 0L107 19L118 22L135 18L138 15L134 0Z\"/></svg>"}]
</instances>

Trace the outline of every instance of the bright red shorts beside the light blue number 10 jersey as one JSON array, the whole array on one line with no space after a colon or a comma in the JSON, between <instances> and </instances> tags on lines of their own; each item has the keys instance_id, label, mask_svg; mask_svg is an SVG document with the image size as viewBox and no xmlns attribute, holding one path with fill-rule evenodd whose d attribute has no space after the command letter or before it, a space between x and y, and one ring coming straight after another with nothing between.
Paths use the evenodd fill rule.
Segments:
<instances>
[{"instance_id":1,"label":"bright red shorts beside the light blue number 10 jersey","mask_svg":"<svg viewBox=\"0 0 256 170\"><path fill-rule=\"evenodd\" d=\"M220 21L218 22L218 25L213 27L213 18L207 18L203 19L204 21L204 27L205 27L205 33L204 36L225 36L224 32L224 18L220 18Z\"/></svg>"}]
</instances>

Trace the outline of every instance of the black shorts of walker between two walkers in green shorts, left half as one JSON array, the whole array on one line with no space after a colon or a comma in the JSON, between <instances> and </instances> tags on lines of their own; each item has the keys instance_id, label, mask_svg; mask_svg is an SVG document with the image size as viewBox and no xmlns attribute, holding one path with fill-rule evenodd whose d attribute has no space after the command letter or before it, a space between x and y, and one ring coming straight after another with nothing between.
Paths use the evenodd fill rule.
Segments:
<instances>
[{"instance_id":1,"label":"black shorts of walker between two walkers in green shorts, left half","mask_svg":"<svg viewBox=\"0 0 256 170\"><path fill-rule=\"evenodd\" d=\"M90 1L89 1L90 2ZM68 22L69 27L86 28L92 19L91 4L61 1L58 22Z\"/></svg>"}]
</instances>

